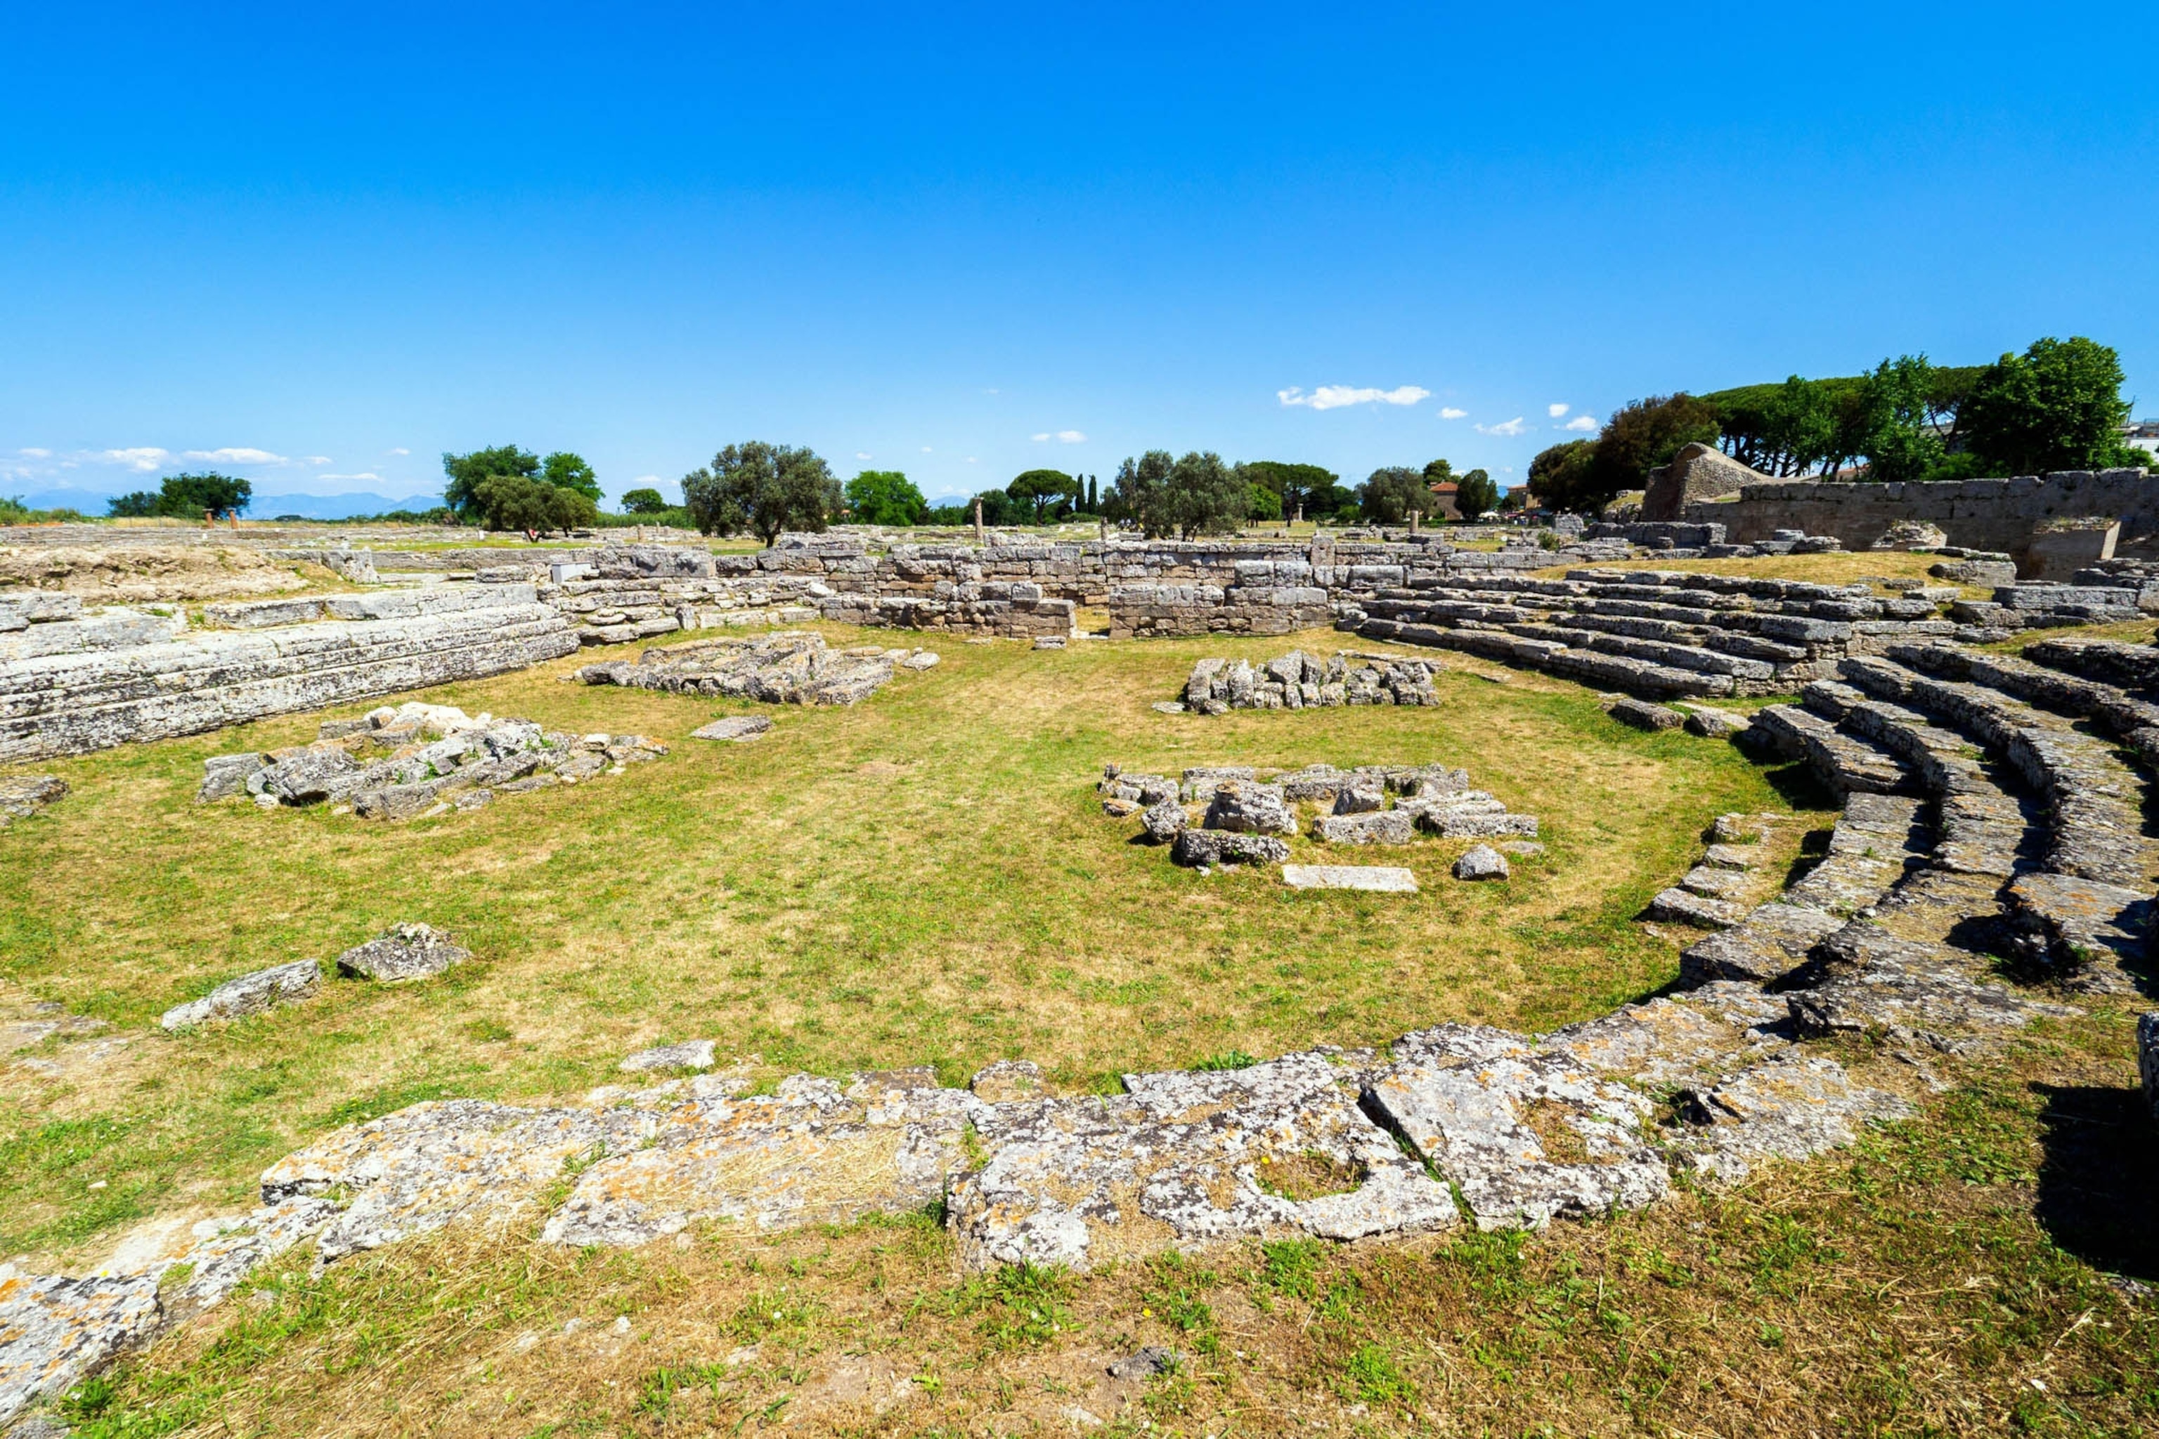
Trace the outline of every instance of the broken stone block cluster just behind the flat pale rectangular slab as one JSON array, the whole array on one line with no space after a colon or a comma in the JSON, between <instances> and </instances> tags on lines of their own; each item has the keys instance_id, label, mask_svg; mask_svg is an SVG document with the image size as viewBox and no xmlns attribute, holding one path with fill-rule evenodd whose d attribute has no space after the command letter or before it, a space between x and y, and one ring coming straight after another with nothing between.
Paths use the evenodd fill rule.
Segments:
<instances>
[{"instance_id":1,"label":"broken stone block cluster just behind the flat pale rectangular slab","mask_svg":"<svg viewBox=\"0 0 2159 1439\"><path fill-rule=\"evenodd\" d=\"M1282 835L1300 831L1298 809L1311 805L1311 835L1321 844L1412 844L1440 839L1535 839L1537 818L1468 787L1466 770L1442 764L1302 770L1252 766L1190 768L1179 779L1129 775L1103 766L1101 809L1140 818L1146 844L1170 846L1170 861L1192 867L1278 865L1289 859Z\"/></svg>"}]
</instances>

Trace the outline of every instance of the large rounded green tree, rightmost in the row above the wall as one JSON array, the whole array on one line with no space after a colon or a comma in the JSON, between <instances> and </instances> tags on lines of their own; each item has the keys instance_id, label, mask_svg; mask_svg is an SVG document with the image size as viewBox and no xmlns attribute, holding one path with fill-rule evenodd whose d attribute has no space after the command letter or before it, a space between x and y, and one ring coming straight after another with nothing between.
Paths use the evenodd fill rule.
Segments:
<instances>
[{"instance_id":1,"label":"large rounded green tree, rightmost in the row above the wall","mask_svg":"<svg viewBox=\"0 0 2159 1439\"><path fill-rule=\"evenodd\" d=\"M2127 419L2120 356L2081 334L2004 354L1958 410L1965 442L1993 475L2146 464L2148 453L2122 442Z\"/></svg>"}]
</instances>

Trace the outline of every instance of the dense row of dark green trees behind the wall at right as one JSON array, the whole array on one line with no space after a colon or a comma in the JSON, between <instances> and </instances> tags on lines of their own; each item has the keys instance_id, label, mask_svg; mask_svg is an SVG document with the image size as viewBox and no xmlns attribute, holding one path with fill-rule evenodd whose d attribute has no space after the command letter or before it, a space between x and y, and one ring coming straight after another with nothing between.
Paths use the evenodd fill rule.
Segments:
<instances>
[{"instance_id":1,"label":"dense row of dark green trees behind the wall at right","mask_svg":"<svg viewBox=\"0 0 2159 1439\"><path fill-rule=\"evenodd\" d=\"M1865 375L1788 378L1710 395L1637 399L1593 440L1554 444L1529 466L1552 509L1598 509L1641 490L1686 444L1714 444L1775 477L1973 479L2144 466L2122 442L2122 362L2086 337L2038 339L1993 365L1885 358Z\"/></svg>"}]
</instances>

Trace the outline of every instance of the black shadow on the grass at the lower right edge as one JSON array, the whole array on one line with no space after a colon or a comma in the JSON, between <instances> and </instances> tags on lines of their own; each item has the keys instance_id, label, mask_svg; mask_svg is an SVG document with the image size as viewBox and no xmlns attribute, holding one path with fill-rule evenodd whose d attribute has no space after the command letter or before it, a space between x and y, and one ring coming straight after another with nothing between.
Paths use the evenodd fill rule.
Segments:
<instances>
[{"instance_id":1,"label":"black shadow on the grass at the lower right edge","mask_svg":"<svg viewBox=\"0 0 2159 1439\"><path fill-rule=\"evenodd\" d=\"M2159 1282L2159 1139L2137 1089L2032 1085L2045 1096L2036 1217L2099 1269Z\"/></svg>"}]
</instances>

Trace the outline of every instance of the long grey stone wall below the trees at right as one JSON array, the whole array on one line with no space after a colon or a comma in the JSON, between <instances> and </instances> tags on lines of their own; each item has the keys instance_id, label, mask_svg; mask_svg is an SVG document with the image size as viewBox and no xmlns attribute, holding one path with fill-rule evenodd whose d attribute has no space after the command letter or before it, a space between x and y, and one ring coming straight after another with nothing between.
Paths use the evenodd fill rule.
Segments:
<instances>
[{"instance_id":1,"label":"long grey stone wall below the trees at right","mask_svg":"<svg viewBox=\"0 0 2159 1439\"><path fill-rule=\"evenodd\" d=\"M1775 531L1835 535L1863 550L1898 520L1941 526L1950 544L2023 554L2047 520L2107 516L2122 522L2118 554L2159 554L2159 479L2144 470L2055 470L2047 477L1872 485L1779 479L1732 498L1686 507L1688 522L1723 524L1734 544Z\"/></svg>"}]
</instances>

